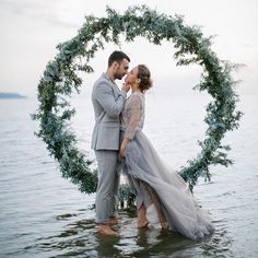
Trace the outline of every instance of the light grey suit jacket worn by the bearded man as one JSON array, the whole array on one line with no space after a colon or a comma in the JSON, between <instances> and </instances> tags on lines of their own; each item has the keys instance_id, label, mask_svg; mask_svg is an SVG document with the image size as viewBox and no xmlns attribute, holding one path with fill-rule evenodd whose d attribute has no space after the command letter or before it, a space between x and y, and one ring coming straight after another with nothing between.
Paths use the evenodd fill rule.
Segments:
<instances>
[{"instance_id":1,"label":"light grey suit jacket worn by the bearded man","mask_svg":"<svg viewBox=\"0 0 258 258\"><path fill-rule=\"evenodd\" d=\"M95 82L92 104L95 127L92 134L93 150L119 150L120 119L127 93L109 80L106 73Z\"/></svg>"}]
</instances>

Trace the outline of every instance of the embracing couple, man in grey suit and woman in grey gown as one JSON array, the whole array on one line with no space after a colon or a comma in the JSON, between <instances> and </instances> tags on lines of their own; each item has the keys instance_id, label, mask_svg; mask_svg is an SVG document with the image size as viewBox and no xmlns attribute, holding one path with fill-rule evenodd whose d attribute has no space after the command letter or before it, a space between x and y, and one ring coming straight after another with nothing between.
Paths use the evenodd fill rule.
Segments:
<instances>
[{"instance_id":1,"label":"embracing couple, man in grey suit and woman in grey gown","mask_svg":"<svg viewBox=\"0 0 258 258\"><path fill-rule=\"evenodd\" d=\"M146 210L154 206L161 227L197 239L213 232L213 225L189 191L184 179L159 156L142 132L144 93L152 86L151 72L144 64L129 70L130 58L114 51L106 73L95 82L92 103L95 127L92 149L98 167L96 190L96 223L105 235L118 235L113 230L117 220L117 191L120 160L124 174L136 195L138 227L149 224ZM125 79L121 90L115 80ZM127 93L131 94L127 97ZM122 159L120 159L122 157Z\"/></svg>"}]
</instances>

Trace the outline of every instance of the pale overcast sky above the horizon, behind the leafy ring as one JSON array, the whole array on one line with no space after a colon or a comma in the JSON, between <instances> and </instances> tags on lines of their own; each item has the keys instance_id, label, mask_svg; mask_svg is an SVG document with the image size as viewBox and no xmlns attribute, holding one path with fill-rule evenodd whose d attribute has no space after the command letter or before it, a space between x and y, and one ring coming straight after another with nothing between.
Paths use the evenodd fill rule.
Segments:
<instances>
[{"instance_id":1,"label":"pale overcast sky above the horizon, behind the leafy ring","mask_svg":"<svg viewBox=\"0 0 258 258\"><path fill-rule=\"evenodd\" d=\"M245 64L235 80L241 92L258 93L257 0L0 0L0 92L36 96L46 63L59 43L71 39L85 15L106 16L106 5L122 13L130 5L146 4L167 15L180 14L188 25L199 25L204 36L214 35L212 50L222 60ZM91 61L95 72L84 77L82 91L91 89L103 71L115 45L105 46ZM156 92L188 92L200 78L199 67L176 67L171 43L154 46L144 38L122 43L130 67L145 63L152 71Z\"/></svg>"}]
</instances>

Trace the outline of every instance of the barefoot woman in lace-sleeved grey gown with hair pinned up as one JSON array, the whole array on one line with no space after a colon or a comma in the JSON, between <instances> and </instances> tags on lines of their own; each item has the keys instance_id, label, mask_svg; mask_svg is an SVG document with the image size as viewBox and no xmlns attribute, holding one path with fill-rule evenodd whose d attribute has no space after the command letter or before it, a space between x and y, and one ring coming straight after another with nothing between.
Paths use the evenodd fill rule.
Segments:
<instances>
[{"instance_id":1,"label":"barefoot woman in lace-sleeved grey gown with hair pinned up","mask_svg":"<svg viewBox=\"0 0 258 258\"><path fill-rule=\"evenodd\" d=\"M146 210L156 209L162 228L198 239L214 231L208 214L201 210L184 179L160 159L152 143L142 132L144 124L144 92L152 86L150 70L134 67L126 83L132 93L121 114L121 144L124 173L130 190L136 195L138 226L149 224Z\"/></svg>"}]
</instances>

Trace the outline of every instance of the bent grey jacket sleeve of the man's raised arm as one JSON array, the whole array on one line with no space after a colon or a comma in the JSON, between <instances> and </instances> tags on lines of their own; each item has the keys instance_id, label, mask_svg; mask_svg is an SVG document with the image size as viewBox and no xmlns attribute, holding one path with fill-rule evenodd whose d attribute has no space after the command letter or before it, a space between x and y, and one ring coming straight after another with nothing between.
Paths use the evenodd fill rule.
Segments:
<instances>
[{"instance_id":1,"label":"bent grey jacket sleeve of the man's raised arm","mask_svg":"<svg viewBox=\"0 0 258 258\"><path fill-rule=\"evenodd\" d=\"M113 89L105 83L101 83L96 87L97 102L105 109L106 114L113 118L119 117L126 96L126 92L121 91L118 97L115 98Z\"/></svg>"}]
</instances>

